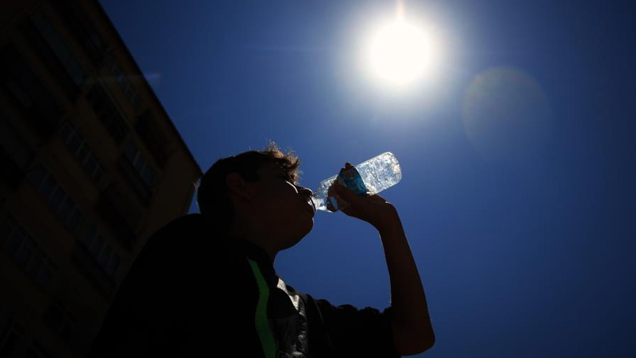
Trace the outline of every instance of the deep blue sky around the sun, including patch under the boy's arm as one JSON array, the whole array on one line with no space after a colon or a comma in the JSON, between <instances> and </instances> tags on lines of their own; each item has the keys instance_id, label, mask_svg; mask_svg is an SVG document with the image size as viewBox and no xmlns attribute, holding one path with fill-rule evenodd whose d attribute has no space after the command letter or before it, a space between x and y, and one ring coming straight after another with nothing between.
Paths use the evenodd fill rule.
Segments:
<instances>
[{"instance_id":1,"label":"deep blue sky around the sun, including patch under the boy's arm","mask_svg":"<svg viewBox=\"0 0 636 358\"><path fill-rule=\"evenodd\" d=\"M628 1L406 1L443 55L399 93L358 50L394 1L100 3L204 170L275 140L313 189L396 154L403 180L381 195L424 280L422 356L636 356ZM377 234L342 213L317 213L276 269L334 304L389 304Z\"/></svg>"}]
</instances>

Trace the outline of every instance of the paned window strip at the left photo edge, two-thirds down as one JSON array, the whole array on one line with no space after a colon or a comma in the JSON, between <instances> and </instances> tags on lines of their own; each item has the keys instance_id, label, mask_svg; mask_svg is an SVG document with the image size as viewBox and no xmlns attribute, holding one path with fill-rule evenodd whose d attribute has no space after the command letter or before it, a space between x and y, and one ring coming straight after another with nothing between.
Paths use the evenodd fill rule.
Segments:
<instances>
[{"instance_id":1,"label":"paned window strip at the left photo edge, two-thirds down","mask_svg":"<svg viewBox=\"0 0 636 358\"><path fill-rule=\"evenodd\" d=\"M53 261L31 234L11 216L0 222L0 247L4 247L6 254L31 276L36 286L45 288L48 285L55 272Z\"/></svg>"}]
</instances>

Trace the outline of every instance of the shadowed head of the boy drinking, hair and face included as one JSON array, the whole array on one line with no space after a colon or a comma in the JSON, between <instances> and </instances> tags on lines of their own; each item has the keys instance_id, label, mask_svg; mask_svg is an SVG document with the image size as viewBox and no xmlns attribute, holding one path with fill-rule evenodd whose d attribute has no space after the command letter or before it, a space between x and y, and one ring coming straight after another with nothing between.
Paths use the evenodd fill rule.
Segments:
<instances>
[{"instance_id":1,"label":"shadowed head of the boy drinking, hair and face included","mask_svg":"<svg viewBox=\"0 0 636 358\"><path fill-rule=\"evenodd\" d=\"M312 192L298 185L299 166L275 143L219 159L200 180L199 210L219 233L276 236L280 249L293 245L313 226Z\"/></svg>"}]
</instances>

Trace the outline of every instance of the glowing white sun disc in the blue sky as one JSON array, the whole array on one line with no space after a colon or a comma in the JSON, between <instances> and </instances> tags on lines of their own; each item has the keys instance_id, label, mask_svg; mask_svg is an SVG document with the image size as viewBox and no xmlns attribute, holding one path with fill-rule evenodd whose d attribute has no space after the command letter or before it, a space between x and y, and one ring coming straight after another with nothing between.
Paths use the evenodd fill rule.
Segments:
<instances>
[{"instance_id":1,"label":"glowing white sun disc in the blue sky","mask_svg":"<svg viewBox=\"0 0 636 358\"><path fill-rule=\"evenodd\" d=\"M398 18L382 27L370 43L373 73L394 85L413 82L424 75L431 57L431 45L418 27Z\"/></svg>"}]
</instances>

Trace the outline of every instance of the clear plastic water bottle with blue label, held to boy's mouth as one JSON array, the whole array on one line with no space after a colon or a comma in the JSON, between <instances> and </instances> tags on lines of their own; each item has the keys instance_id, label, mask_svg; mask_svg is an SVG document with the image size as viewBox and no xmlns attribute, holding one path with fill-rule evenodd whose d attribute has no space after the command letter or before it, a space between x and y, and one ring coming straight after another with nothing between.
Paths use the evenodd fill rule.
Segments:
<instances>
[{"instance_id":1,"label":"clear plastic water bottle with blue label, held to boy's mouth","mask_svg":"<svg viewBox=\"0 0 636 358\"><path fill-rule=\"evenodd\" d=\"M402 179L402 169L397 158L386 152L361 162L338 175L322 180L314 190L314 207L316 210L338 211L342 208L336 201L333 185L343 185L360 196L378 194L384 189L396 185Z\"/></svg>"}]
</instances>

